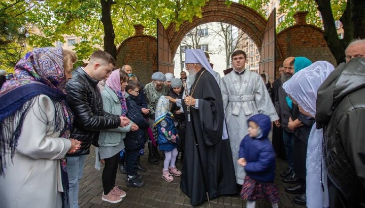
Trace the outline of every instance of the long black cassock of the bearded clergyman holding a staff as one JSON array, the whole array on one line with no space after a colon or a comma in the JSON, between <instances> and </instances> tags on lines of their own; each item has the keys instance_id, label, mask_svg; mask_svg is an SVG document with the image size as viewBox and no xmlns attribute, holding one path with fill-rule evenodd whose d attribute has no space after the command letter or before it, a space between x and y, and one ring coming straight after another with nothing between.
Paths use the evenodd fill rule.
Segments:
<instances>
[{"instance_id":1,"label":"long black cassock of the bearded clergyman holding a staff","mask_svg":"<svg viewBox=\"0 0 365 208\"><path fill-rule=\"evenodd\" d=\"M187 119L187 106L183 100L186 135L180 188L191 198L191 205L198 205L207 200L203 177L207 181L209 198L235 194L237 186L229 139L222 140L224 113L219 86L213 75L203 68L196 73L191 90L192 97L199 99L199 109L191 106L190 116L194 121L204 174L197 155L192 123Z\"/></svg>"}]
</instances>

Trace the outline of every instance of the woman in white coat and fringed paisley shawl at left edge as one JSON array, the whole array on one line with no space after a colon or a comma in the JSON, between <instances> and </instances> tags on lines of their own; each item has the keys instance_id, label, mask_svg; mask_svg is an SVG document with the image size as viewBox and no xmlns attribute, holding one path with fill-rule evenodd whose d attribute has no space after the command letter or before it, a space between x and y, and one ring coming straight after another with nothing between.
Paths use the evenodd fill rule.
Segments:
<instances>
[{"instance_id":1,"label":"woman in white coat and fringed paisley shawl at left edge","mask_svg":"<svg viewBox=\"0 0 365 208\"><path fill-rule=\"evenodd\" d=\"M76 54L36 48L15 66L0 91L0 201L2 207L68 207L64 155L73 117L64 86Z\"/></svg>"}]
</instances>

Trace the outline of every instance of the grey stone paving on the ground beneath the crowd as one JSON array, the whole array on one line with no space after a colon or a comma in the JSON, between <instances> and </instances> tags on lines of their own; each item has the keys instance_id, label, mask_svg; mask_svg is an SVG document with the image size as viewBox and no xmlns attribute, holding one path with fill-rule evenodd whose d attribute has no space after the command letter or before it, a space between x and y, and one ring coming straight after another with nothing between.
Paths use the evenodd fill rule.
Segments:
<instances>
[{"instance_id":1,"label":"grey stone paving on the ground beneath the crowd","mask_svg":"<svg viewBox=\"0 0 365 208\"><path fill-rule=\"evenodd\" d=\"M142 188L128 188L124 182L126 177L119 171L117 173L116 185L120 186L122 190L127 192L127 196L119 203L112 204L102 200L102 170L97 171L95 166L95 150L91 147L91 154L88 155L85 167L84 177L80 182L79 205L82 208L86 207L191 207L190 198L187 197L180 190L180 177L174 176L174 181L169 183L161 178L162 161L159 165L153 165L147 162L147 152L141 157L141 164L147 168L147 172L141 173L145 185ZM182 163L177 162L178 169L181 168ZM292 199L295 195L285 192L284 184L281 181L280 173L286 169L284 160L277 159L277 177L275 182L279 188L280 202L279 207L305 207L294 204ZM102 167L103 168L103 167ZM201 204L198 207L245 207L245 202L239 199L238 195L220 196L211 200L211 206L208 202ZM270 202L257 202L256 207L271 207Z\"/></svg>"}]
</instances>

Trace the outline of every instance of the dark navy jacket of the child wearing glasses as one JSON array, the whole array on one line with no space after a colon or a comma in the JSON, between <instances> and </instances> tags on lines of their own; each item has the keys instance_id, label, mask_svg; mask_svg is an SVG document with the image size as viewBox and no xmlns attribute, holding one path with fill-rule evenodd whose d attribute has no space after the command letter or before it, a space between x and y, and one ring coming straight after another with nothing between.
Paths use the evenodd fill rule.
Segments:
<instances>
[{"instance_id":1,"label":"dark navy jacket of the child wearing glasses","mask_svg":"<svg viewBox=\"0 0 365 208\"><path fill-rule=\"evenodd\" d=\"M129 95L125 99L128 108L126 116L139 127L137 131L130 131L125 136L124 145L126 150L143 148L146 141L144 130L149 127L148 121L141 113L141 107L136 103L136 99L137 97L134 95Z\"/></svg>"}]
</instances>

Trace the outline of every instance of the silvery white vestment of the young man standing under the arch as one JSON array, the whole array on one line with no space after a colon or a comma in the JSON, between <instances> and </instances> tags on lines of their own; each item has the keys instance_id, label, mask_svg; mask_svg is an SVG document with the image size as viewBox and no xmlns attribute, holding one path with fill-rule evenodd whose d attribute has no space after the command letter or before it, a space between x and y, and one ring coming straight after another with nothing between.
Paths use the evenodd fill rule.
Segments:
<instances>
[{"instance_id":1,"label":"silvery white vestment of the young man standing under the arch","mask_svg":"<svg viewBox=\"0 0 365 208\"><path fill-rule=\"evenodd\" d=\"M221 91L236 181L243 184L246 172L237 160L240 143L248 134L247 119L258 113L268 115L271 121L279 117L261 76L255 72L246 70L238 75L234 70L231 71L222 78Z\"/></svg>"}]
</instances>

